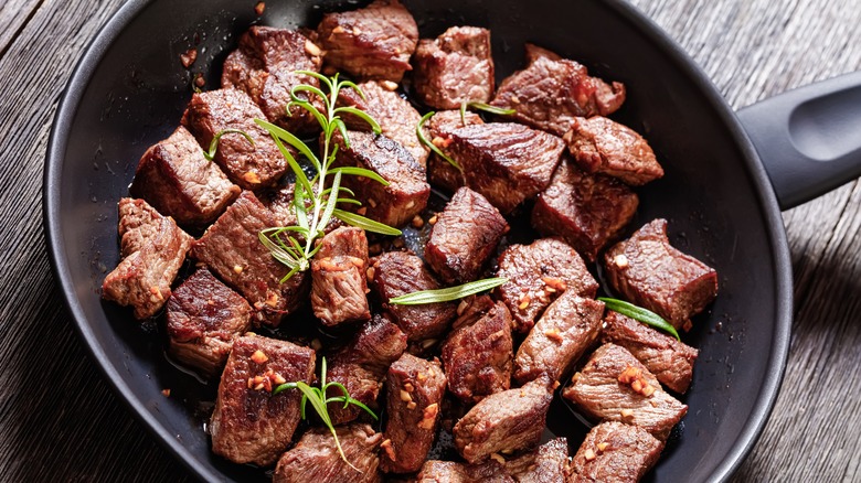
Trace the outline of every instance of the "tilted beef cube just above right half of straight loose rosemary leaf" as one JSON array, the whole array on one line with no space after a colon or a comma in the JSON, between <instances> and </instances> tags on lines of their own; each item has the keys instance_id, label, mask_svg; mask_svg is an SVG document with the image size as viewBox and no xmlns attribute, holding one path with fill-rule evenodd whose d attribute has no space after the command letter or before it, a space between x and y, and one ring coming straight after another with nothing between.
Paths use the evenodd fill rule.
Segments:
<instances>
[{"instance_id":1,"label":"tilted beef cube just above right half of straight loose rosemary leaf","mask_svg":"<svg viewBox=\"0 0 861 483\"><path fill-rule=\"evenodd\" d=\"M431 228L425 260L448 283L472 281L508 229L506 218L485 196L461 187Z\"/></svg>"}]
</instances>

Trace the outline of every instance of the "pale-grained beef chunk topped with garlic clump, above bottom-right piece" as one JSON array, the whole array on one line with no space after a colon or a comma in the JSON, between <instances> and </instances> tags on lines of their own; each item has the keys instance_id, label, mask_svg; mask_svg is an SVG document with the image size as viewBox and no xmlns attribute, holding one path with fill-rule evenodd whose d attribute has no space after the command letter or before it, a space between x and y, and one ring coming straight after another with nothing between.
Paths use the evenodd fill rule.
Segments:
<instances>
[{"instance_id":1,"label":"pale-grained beef chunk topped with garlic clump, above bottom-right piece","mask_svg":"<svg viewBox=\"0 0 861 483\"><path fill-rule=\"evenodd\" d=\"M592 354L563 397L587 416L639 426L660 440L688 412L628 350L612 343Z\"/></svg>"}]
</instances>

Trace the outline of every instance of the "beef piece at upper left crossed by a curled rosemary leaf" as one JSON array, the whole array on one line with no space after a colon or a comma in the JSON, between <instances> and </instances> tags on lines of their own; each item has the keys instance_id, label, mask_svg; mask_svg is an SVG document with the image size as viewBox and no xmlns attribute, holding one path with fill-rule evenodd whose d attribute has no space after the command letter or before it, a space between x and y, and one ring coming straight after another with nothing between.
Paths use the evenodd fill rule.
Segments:
<instances>
[{"instance_id":1,"label":"beef piece at upper left crossed by a curled rosemary leaf","mask_svg":"<svg viewBox=\"0 0 861 483\"><path fill-rule=\"evenodd\" d=\"M214 160L231 181L245 190L256 190L275 184L287 171L287 161L275 141L254 122L254 119L263 118L261 108L247 94L238 89L217 89L191 96L182 125L206 150L212 139L225 129L240 129L251 136L254 146L240 133L224 133Z\"/></svg>"}]
</instances>

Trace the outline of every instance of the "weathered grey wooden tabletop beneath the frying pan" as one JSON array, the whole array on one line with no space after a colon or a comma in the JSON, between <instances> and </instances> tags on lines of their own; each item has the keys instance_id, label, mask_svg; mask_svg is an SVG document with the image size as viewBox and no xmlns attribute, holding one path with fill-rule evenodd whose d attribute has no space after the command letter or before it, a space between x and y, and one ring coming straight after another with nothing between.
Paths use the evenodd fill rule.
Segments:
<instances>
[{"instance_id":1,"label":"weathered grey wooden tabletop beneath the frying pan","mask_svg":"<svg viewBox=\"0 0 861 483\"><path fill-rule=\"evenodd\" d=\"M0 480L182 481L102 380L44 250L42 164L77 57L121 0L0 1ZM861 67L858 0L634 0L736 108ZM861 108L861 106L859 107ZM861 481L861 186L784 214L796 321L737 481Z\"/></svg>"}]
</instances>

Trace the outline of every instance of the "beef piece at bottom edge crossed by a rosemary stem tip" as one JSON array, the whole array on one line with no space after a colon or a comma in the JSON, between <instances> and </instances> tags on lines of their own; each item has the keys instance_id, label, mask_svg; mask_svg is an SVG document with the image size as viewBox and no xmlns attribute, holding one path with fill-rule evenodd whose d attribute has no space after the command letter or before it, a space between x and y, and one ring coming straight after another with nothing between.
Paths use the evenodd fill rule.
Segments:
<instances>
[{"instance_id":1,"label":"beef piece at bottom edge crossed by a rosemary stem tip","mask_svg":"<svg viewBox=\"0 0 861 483\"><path fill-rule=\"evenodd\" d=\"M273 483L376 483L382 481L376 449L383 436L368 425L334 428L343 455L328 428L311 428L275 468ZM352 468L351 468L352 465Z\"/></svg>"}]
</instances>

